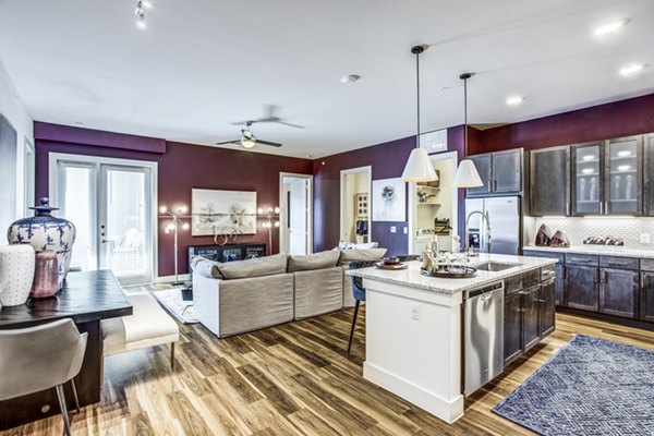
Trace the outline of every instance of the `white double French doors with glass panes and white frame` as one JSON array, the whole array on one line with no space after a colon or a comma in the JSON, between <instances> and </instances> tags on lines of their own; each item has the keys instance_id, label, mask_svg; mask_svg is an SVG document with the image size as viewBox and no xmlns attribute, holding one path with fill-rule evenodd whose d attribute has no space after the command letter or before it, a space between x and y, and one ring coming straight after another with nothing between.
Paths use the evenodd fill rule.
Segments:
<instances>
[{"instance_id":1,"label":"white double French doors with glass panes and white frame","mask_svg":"<svg viewBox=\"0 0 654 436\"><path fill-rule=\"evenodd\" d=\"M50 197L77 230L71 270L111 269L121 284L156 272L157 164L50 154Z\"/></svg>"}]
</instances>

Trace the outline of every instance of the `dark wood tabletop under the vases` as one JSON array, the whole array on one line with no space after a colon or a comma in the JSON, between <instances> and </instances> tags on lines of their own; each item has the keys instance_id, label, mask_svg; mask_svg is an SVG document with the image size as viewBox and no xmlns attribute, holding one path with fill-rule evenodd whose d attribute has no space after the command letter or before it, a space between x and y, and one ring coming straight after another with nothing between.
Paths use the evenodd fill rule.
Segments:
<instances>
[{"instance_id":1,"label":"dark wood tabletop under the vases","mask_svg":"<svg viewBox=\"0 0 654 436\"><path fill-rule=\"evenodd\" d=\"M81 324L131 314L132 304L111 270L69 272L57 295L3 306L0 329L31 327L61 318Z\"/></svg>"}]
</instances>

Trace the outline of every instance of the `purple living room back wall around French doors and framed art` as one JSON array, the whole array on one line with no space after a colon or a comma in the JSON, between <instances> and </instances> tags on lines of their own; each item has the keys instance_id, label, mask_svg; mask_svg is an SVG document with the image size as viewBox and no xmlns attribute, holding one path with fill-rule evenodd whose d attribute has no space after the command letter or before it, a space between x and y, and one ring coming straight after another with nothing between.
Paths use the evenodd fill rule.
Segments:
<instances>
[{"instance_id":1,"label":"purple living room back wall around French doors and framed art","mask_svg":"<svg viewBox=\"0 0 654 436\"><path fill-rule=\"evenodd\" d=\"M70 128L65 128L66 130ZM56 129L55 129L56 130ZM104 136L106 132L98 132ZM90 131L86 135L93 136ZM114 134L120 135L120 134ZM129 146L129 138L122 138ZM166 143L165 154L135 152L121 148L98 147L66 142L36 140L36 196L48 195L48 155L68 153L75 155L102 156L122 159L149 160L158 164L159 205L173 207L184 204L191 207L191 189L256 191L259 207L279 203L279 173L312 173L312 161L283 156L197 146L182 143ZM166 219L159 220L158 265L159 276L174 271L172 234L164 233ZM279 250L279 232L272 232L272 251ZM239 242L268 243L268 232L261 227L257 234L244 235ZM191 231L181 231L179 239L179 271L186 272L189 245L213 244L211 237L191 237Z\"/></svg>"}]
</instances>

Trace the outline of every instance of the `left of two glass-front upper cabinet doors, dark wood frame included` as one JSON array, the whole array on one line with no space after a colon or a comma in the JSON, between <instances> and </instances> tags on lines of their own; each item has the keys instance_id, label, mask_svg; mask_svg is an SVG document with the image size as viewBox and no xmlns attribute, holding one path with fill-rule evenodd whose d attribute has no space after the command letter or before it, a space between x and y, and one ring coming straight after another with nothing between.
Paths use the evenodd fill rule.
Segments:
<instances>
[{"instance_id":1,"label":"left of two glass-front upper cabinet doors, dark wood frame included","mask_svg":"<svg viewBox=\"0 0 654 436\"><path fill-rule=\"evenodd\" d=\"M604 213L603 144L590 143L572 147L573 215Z\"/></svg>"}]
</instances>

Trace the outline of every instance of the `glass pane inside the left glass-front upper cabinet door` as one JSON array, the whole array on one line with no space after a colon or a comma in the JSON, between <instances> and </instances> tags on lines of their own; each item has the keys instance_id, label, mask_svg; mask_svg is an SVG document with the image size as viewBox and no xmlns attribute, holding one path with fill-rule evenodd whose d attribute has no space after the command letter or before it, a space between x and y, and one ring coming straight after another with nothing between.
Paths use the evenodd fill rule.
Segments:
<instances>
[{"instance_id":1,"label":"glass pane inside the left glass-front upper cabinet door","mask_svg":"<svg viewBox=\"0 0 654 436\"><path fill-rule=\"evenodd\" d=\"M576 210L578 214L600 214L602 198L600 145L578 147L576 156Z\"/></svg>"}]
</instances>

